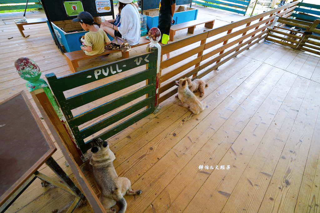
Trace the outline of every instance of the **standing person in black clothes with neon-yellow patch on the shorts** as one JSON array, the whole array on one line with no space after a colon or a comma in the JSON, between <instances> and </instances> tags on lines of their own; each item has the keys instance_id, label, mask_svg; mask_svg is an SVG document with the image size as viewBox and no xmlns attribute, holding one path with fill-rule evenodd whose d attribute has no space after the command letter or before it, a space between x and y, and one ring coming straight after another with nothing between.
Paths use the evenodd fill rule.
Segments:
<instances>
[{"instance_id":1,"label":"standing person in black clothes with neon-yellow patch on the shorts","mask_svg":"<svg viewBox=\"0 0 320 213\"><path fill-rule=\"evenodd\" d=\"M160 0L159 3L159 25L161 32L161 43L167 44L169 41L170 27L173 24L173 14L176 9L176 0ZM167 54L167 58L170 53Z\"/></svg>"}]
</instances>

